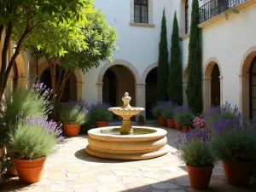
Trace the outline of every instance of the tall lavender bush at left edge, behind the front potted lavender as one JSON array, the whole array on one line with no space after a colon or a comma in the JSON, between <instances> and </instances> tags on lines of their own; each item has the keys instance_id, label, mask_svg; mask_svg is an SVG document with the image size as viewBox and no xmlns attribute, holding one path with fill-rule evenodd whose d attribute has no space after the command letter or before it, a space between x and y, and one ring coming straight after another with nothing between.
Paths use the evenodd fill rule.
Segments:
<instances>
[{"instance_id":1,"label":"tall lavender bush at left edge, behind the front potted lavender","mask_svg":"<svg viewBox=\"0 0 256 192\"><path fill-rule=\"evenodd\" d=\"M52 105L51 98L52 90L47 89L44 84L32 84L28 87L17 85L14 89L7 89L4 92L2 103L3 111L0 114L1 128L0 146L3 146L7 141L9 131L17 126L17 116L23 113L26 116L44 117L49 114Z\"/></svg>"}]
</instances>

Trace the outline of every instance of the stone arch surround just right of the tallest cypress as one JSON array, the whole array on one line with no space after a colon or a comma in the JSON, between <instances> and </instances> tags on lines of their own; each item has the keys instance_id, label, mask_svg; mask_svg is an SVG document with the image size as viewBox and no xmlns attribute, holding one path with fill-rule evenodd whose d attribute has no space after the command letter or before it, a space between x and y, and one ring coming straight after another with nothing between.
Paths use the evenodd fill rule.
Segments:
<instances>
[{"instance_id":1,"label":"stone arch surround just right of the tallest cypress","mask_svg":"<svg viewBox=\"0 0 256 192\"><path fill-rule=\"evenodd\" d=\"M220 62L215 57L211 57L207 60L203 73L203 98L204 98L204 110L211 108L212 106L212 69L218 66L219 72L219 104L223 104L223 76Z\"/></svg>"}]
</instances>

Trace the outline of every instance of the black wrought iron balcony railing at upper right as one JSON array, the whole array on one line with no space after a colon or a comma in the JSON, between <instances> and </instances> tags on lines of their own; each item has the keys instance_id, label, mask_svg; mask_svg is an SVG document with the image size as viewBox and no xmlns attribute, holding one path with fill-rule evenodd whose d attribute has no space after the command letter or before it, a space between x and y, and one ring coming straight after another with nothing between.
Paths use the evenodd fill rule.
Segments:
<instances>
[{"instance_id":1,"label":"black wrought iron balcony railing at upper right","mask_svg":"<svg viewBox=\"0 0 256 192\"><path fill-rule=\"evenodd\" d=\"M199 9L200 11L200 22L204 22L212 19L219 14L224 13L228 9L232 9L240 3L246 2L247 0L212 0Z\"/></svg>"}]
</instances>

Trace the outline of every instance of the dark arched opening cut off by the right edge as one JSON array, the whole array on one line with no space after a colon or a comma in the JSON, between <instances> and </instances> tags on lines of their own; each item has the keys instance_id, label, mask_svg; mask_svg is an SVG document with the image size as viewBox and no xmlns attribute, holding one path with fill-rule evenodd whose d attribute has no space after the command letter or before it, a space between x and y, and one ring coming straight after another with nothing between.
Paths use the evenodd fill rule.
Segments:
<instances>
[{"instance_id":1,"label":"dark arched opening cut off by the right edge","mask_svg":"<svg viewBox=\"0 0 256 192\"><path fill-rule=\"evenodd\" d=\"M256 56L250 67L250 118L256 117Z\"/></svg>"}]
</instances>

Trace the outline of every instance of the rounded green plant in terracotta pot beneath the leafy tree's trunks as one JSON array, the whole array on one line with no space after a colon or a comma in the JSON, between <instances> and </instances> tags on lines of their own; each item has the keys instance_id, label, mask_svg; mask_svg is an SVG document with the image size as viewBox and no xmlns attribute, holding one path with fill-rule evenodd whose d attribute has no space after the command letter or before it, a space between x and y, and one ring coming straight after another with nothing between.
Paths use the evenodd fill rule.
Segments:
<instances>
[{"instance_id":1,"label":"rounded green plant in terracotta pot beneath the leafy tree's trunks","mask_svg":"<svg viewBox=\"0 0 256 192\"><path fill-rule=\"evenodd\" d=\"M60 120L63 124L82 125L88 120L87 112L79 105L67 106L61 108Z\"/></svg>"}]
</instances>

